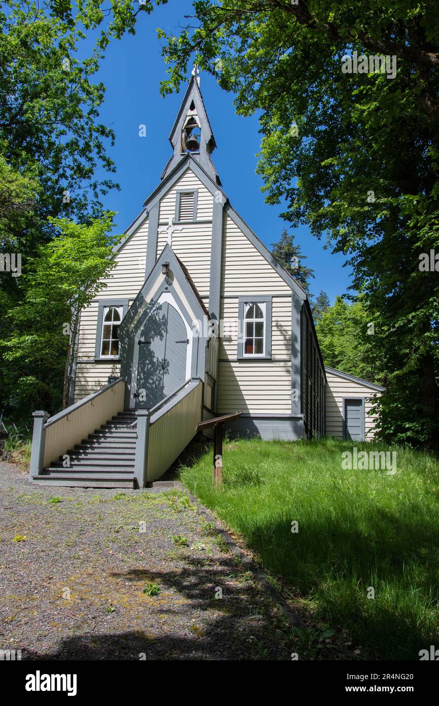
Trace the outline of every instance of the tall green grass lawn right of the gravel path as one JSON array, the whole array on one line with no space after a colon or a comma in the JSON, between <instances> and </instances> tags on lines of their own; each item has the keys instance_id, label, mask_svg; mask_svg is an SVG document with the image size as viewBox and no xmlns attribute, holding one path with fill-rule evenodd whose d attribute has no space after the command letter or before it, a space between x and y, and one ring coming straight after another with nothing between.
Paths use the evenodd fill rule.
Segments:
<instances>
[{"instance_id":1,"label":"tall green grass lawn right of the gravel path","mask_svg":"<svg viewBox=\"0 0 439 706\"><path fill-rule=\"evenodd\" d=\"M181 480L242 535L303 619L349 634L359 659L417 660L439 645L439 464L393 447L395 475L344 470L351 449L329 439L227 442L221 489L210 453Z\"/></svg>"}]
</instances>

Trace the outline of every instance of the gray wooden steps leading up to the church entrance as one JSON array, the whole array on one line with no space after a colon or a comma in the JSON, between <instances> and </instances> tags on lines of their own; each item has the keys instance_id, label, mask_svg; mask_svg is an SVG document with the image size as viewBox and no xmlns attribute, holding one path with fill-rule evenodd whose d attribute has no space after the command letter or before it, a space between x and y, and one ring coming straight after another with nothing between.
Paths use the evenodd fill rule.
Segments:
<instances>
[{"instance_id":1,"label":"gray wooden steps leading up to the church entrance","mask_svg":"<svg viewBox=\"0 0 439 706\"><path fill-rule=\"evenodd\" d=\"M60 456L32 480L40 485L133 488L136 414L120 412L66 455L68 459Z\"/></svg>"}]
</instances>

